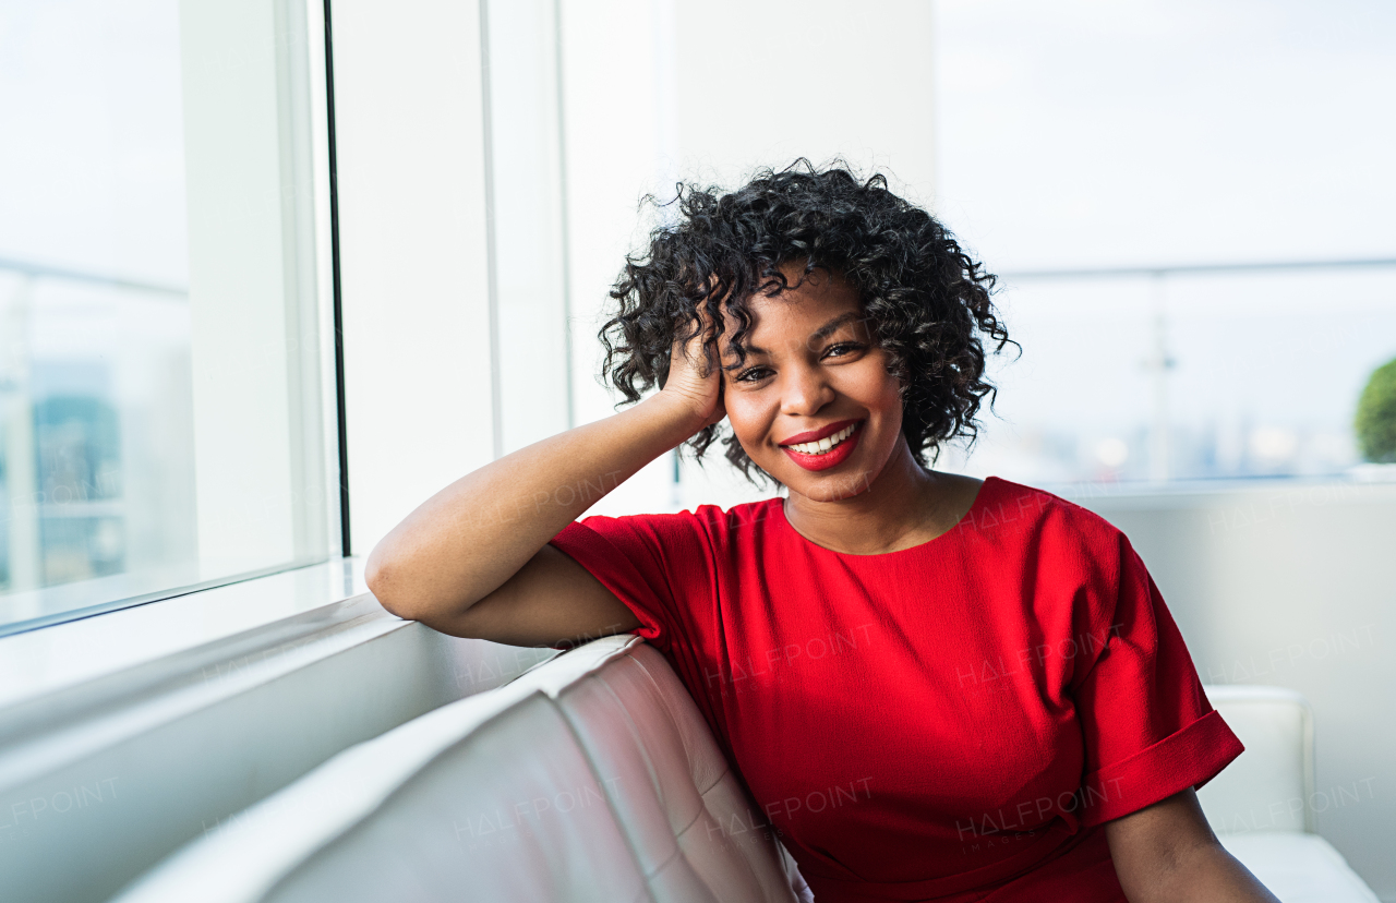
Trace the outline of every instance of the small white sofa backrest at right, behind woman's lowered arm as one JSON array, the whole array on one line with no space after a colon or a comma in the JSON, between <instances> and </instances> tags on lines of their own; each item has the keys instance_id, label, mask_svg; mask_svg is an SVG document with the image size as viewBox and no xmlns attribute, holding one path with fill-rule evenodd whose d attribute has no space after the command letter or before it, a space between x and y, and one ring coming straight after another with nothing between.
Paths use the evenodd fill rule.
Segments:
<instances>
[{"instance_id":1,"label":"small white sofa backrest at right, behind woman's lowered arm","mask_svg":"<svg viewBox=\"0 0 1396 903\"><path fill-rule=\"evenodd\" d=\"M1212 830L1315 832L1314 713L1293 689L1208 687L1208 699L1245 745L1198 800Z\"/></svg>"}]
</instances>

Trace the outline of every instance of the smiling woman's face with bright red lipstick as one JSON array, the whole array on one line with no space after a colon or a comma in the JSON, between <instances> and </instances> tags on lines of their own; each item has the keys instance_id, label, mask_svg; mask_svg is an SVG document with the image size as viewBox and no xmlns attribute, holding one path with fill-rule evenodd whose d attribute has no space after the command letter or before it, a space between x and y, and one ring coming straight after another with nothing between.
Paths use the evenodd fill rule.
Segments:
<instances>
[{"instance_id":1,"label":"smiling woman's face with bright red lipstick","mask_svg":"<svg viewBox=\"0 0 1396 903\"><path fill-rule=\"evenodd\" d=\"M801 269L782 267L792 286ZM737 441L792 493L833 501L866 491L902 441L902 399L857 290L815 271L748 307L745 361L723 375ZM734 361L729 350L723 363Z\"/></svg>"}]
</instances>

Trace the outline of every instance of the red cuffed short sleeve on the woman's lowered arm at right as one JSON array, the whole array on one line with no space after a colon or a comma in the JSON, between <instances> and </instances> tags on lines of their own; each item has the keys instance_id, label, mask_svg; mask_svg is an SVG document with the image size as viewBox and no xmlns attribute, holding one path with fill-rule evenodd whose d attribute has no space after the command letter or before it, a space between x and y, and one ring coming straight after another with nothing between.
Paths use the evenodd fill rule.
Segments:
<instances>
[{"instance_id":1,"label":"red cuffed short sleeve on the woman's lowered arm at right","mask_svg":"<svg viewBox=\"0 0 1396 903\"><path fill-rule=\"evenodd\" d=\"M1208 702L1143 561L1122 535L1118 542L1108 641L1074 694L1086 744L1087 826L1201 787L1244 748Z\"/></svg>"}]
</instances>

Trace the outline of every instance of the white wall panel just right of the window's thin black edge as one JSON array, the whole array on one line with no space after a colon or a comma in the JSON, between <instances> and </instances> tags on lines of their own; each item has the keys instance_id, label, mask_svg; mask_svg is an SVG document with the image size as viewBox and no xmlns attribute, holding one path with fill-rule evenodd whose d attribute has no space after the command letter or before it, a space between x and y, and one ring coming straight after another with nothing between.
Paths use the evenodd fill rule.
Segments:
<instances>
[{"instance_id":1,"label":"white wall panel just right of the window's thin black edge","mask_svg":"<svg viewBox=\"0 0 1396 903\"><path fill-rule=\"evenodd\" d=\"M352 551L491 459L480 13L332 8Z\"/></svg>"}]
</instances>

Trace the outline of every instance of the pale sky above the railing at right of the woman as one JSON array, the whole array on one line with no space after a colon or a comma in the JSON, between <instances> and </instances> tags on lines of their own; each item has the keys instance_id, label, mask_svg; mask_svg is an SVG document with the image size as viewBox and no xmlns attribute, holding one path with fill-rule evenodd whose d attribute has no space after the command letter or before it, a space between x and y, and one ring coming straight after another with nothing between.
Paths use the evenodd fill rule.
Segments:
<instances>
[{"instance_id":1,"label":"pale sky above the railing at right of the woman","mask_svg":"<svg viewBox=\"0 0 1396 903\"><path fill-rule=\"evenodd\" d=\"M935 205L994 267L1396 255L1396 4L935 10Z\"/></svg>"}]
</instances>

